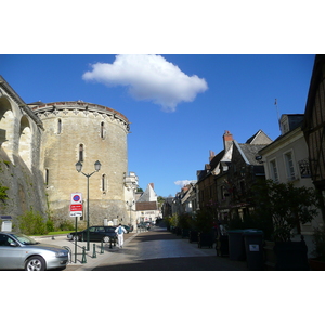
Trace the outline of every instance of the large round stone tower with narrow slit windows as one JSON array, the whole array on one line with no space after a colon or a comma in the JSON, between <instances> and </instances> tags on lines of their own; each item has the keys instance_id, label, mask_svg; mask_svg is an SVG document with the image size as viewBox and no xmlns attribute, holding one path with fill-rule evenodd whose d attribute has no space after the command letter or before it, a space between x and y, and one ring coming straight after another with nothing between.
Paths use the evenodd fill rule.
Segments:
<instances>
[{"instance_id":1,"label":"large round stone tower with narrow slit windows","mask_svg":"<svg viewBox=\"0 0 325 325\"><path fill-rule=\"evenodd\" d=\"M69 219L72 194L81 193L81 219L86 220L89 180L90 225L127 216L123 179L129 120L112 108L82 101L40 103L32 110L44 128L40 165L53 214ZM77 172L76 162L81 161L82 172L91 174L96 160L102 165L99 172L89 178Z\"/></svg>"}]
</instances>

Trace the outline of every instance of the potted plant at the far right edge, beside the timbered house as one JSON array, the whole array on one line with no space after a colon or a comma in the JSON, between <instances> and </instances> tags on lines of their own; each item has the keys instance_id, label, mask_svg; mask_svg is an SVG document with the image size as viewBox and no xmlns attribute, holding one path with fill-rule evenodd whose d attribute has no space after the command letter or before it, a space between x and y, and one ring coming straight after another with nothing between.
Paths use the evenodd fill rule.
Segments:
<instances>
[{"instance_id":1,"label":"potted plant at the far right edge, beside the timbered house","mask_svg":"<svg viewBox=\"0 0 325 325\"><path fill-rule=\"evenodd\" d=\"M309 259L310 268L312 271L325 271L325 225L314 229L313 244L314 257Z\"/></svg>"}]
</instances>

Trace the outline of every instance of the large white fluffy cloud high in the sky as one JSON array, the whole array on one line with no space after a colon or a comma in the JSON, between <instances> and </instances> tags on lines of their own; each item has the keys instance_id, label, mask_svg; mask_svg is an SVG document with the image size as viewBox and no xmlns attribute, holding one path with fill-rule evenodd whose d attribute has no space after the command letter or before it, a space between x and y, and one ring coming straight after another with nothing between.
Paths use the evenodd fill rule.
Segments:
<instances>
[{"instance_id":1,"label":"large white fluffy cloud high in the sky","mask_svg":"<svg viewBox=\"0 0 325 325\"><path fill-rule=\"evenodd\" d=\"M170 112L181 102L193 102L208 89L205 79L187 76L161 55L120 54L113 64L95 63L91 67L83 74L83 80L128 87L135 100L153 101Z\"/></svg>"}]
</instances>

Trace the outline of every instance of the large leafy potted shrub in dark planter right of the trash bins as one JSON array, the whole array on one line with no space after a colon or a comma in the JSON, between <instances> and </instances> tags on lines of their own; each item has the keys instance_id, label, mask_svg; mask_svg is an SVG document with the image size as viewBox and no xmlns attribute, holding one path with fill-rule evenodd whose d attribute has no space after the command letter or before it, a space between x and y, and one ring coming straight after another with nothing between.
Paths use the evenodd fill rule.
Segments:
<instances>
[{"instance_id":1,"label":"large leafy potted shrub in dark planter right of the trash bins","mask_svg":"<svg viewBox=\"0 0 325 325\"><path fill-rule=\"evenodd\" d=\"M317 196L310 187L295 187L292 183L266 180L256 193L256 209L273 223L275 269L281 271L309 270L307 245L301 236L301 224L317 214ZM300 242L291 242L300 235Z\"/></svg>"}]
</instances>

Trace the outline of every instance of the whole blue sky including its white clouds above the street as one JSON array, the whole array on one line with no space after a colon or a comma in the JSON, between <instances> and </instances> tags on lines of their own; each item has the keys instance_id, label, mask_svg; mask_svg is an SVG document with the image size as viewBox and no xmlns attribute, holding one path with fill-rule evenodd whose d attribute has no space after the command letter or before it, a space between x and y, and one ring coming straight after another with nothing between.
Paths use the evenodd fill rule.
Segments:
<instances>
[{"instance_id":1,"label":"whole blue sky including its white clouds above the street","mask_svg":"<svg viewBox=\"0 0 325 325\"><path fill-rule=\"evenodd\" d=\"M157 195L180 191L223 148L280 135L277 112L303 113L314 55L0 55L0 74L26 103L77 101L126 115L129 171Z\"/></svg>"}]
</instances>

